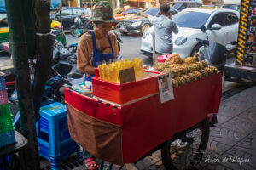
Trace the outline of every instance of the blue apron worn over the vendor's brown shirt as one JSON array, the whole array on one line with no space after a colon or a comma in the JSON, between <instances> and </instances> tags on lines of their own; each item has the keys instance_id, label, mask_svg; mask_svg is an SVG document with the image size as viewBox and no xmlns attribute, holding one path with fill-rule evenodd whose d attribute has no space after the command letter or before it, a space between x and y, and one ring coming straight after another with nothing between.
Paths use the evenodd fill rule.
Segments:
<instances>
[{"instance_id":1,"label":"blue apron worn over the vendor's brown shirt","mask_svg":"<svg viewBox=\"0 0 256 170\"><path fill-rule=\"evenodd\" d=\"M92 65L94 67L97 67L99 65L99 63L103 60L108 62L109 59L114 59L113 47L112 47L112 43L110 41L110 38L109 38L108 34L107 34L107 37L108 37L108 42L110 44L110 48L111 48L111 51L112 51L111 54L99 54L99 52L97 50L96 38L95 38L95 35L94 35L93 31L90 31L90 35L92 37L92 42L93 42L93 63L92 63ZM91 83L91 78L92 77L94 77L94 75L90 75L89 77L87 77L85 75L85 84L86 84L86 82Z\"/></svg>"}]
</instances>

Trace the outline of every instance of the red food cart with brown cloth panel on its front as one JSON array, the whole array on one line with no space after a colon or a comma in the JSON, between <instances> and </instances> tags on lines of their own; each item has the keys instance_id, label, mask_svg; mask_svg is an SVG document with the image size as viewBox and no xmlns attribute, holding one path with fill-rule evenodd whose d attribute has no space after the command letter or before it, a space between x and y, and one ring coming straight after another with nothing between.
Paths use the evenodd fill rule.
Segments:
<instances>
[{"instance_id":1,"label":"red food cart with brown cloth panel on its front","mask_svg":"<svg viewBox=\"0 0 256 170\"><path fill-rule=\"evenodd\" d=\"M92 83L98 81L96 77ZM153 84L147 86L147 83L140 86L140 89L155 88ZM97 87L101 88L102 96L108 95L108 88L104 85ZM137 86L131 85L131 88ZM173 88L175 99L162 104L160 94L154 92L126 102L125 105L118 105L66 88L71 137L93 156L118 165L136 162L152 150L162 149L164 166L171 169L174 164L170 155L171 141L181 139L192 144L195 141L187 134L199 129L201 139L195 158L201 156L209 137L207 114L218 113L220 105L221 74Z\"/></svg>"}]
</instances>

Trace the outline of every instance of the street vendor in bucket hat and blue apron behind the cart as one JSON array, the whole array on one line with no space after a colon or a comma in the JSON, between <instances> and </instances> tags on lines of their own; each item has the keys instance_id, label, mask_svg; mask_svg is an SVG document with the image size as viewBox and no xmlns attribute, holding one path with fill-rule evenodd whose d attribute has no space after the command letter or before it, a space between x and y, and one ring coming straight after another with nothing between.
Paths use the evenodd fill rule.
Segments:
<instances>
[{"instance_id":1,"label":"street vendor in bucket hat and blue apron behind the cart","mask_svg":"<svg viewBox=\"0 0 256 170\"><path fill-rule=\"evenodd\" d=\"M101 62L115 59L119 54L116 37L109 32L118 21L113 18L113 11L107 1L96 3L92 15L94 29L79 38L77 66L79 71L86 73L85 83L94 77L94 68ZM85 166L87 169L97 169L95 158L85 151Z\"/></svg>"}]
</instances>

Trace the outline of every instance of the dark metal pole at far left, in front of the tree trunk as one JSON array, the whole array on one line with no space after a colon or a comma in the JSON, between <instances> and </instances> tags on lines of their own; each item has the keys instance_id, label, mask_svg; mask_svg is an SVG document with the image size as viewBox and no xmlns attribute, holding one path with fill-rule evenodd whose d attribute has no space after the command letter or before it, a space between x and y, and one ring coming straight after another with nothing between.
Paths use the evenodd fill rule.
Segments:
<instances>
[{"instance_id":1,"label":"dark metal pole at far left, in front of the tree trunk","mask_svg":"<svg viewBox=\"0 0 256 170\"><path fill-rule=\"evenodd\" d=\"M38 140L21 2L20 0L5 0L5 5L9 25L9 40L12 46L11 52L13 55L15 82L19 99L21 132L28 141L24 156L25 166L27 170L38 170L40 169Z\"/></svg>"}]
</instances>

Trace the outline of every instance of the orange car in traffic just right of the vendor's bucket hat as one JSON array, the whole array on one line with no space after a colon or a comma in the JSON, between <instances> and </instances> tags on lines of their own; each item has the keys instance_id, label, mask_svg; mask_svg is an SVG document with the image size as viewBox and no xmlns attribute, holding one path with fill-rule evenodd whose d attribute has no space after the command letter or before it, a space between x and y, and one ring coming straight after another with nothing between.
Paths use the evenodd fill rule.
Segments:
<instances>
[{"instance_id":1,"label":"orange car in traffic just right of the vendor's bucket hat","mask_svg":"<svg viewBox=\"0 0 256 170\"><path fill-rule=\"evenodd\" d=\"M135 8L135 7L125 7L125 8L119 8L114 13L115 20L122 20L127 17L133 16L134 14L137 14L140 12L142 8Z\"/></svg>"}]
</instances>

